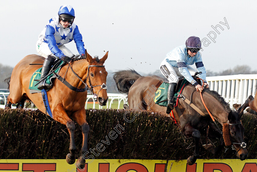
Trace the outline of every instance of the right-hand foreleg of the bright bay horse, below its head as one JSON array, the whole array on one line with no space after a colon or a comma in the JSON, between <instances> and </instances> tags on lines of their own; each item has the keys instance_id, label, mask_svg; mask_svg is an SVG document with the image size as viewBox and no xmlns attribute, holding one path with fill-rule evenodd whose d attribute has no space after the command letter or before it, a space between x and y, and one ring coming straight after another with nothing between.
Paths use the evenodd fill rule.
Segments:
<instances>
[{"instance_id":1,"label":"right-hand foreleg of the bright bay horse, below its head","mask_svg":"<svg viewBox=\"0 0 257 172\"><path fill-rule=\"evenodd\" d=\"M73 113L73 118L78 122L78 124L81 126L82 135L83 135L83 144L81 147L81 155L78 158L76 162L76 166L80 169L83 169L85 167L85 158L84 155L86 155L88 152L88 132L89 132L89 125L86 121L86 111L84 107L76 112Z\"/></svg>"}]
</instances>

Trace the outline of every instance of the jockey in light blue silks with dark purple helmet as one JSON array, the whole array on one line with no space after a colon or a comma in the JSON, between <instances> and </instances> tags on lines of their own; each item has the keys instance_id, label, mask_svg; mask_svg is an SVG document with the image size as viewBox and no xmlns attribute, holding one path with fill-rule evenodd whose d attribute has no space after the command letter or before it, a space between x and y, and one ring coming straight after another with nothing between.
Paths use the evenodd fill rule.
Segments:
<instances>
[{"instance_id":1,"label":"jockey in light blue silks with dark purple helmet","mask_svg":"<svg viewBox=\"0 0 257 172\"><path fill-rule=\"evenodd\" d=\"M203 79L203 84L206 85L206 88L209 88L209 85L206 81L206 71L203 66L201 53L201 41L196 36L190 36L185 45L174 48L169 52L165 59L161 63L161 72L169 80L168 87L168 105L166 113L169 114L174 108L173 97L177 88L178 76L184 76L188 82L196 87L197 91L202 92L203 88L200 86L191 75L194 75L196 72L189 65L196 64L199 74L199 78Z\"/></svg>"}]
</instances>

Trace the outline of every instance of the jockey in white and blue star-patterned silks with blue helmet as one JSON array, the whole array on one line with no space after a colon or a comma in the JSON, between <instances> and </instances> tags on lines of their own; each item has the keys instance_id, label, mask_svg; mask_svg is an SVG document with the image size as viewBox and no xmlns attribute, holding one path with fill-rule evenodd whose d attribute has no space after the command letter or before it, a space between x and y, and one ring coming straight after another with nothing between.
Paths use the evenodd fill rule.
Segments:
<instances>
[{"instance_id":1,"label":"jockey in white and blue star-patterned silks with blue helmet","mask_svg":"<svg viewBox=\"0 0 257 172\"><path fill-rule=\"evenodd\" d=\"M73 53L65 47L64 44L75 41L80 55L84 55L85 48L82 41L82 35L78 26L73 23L75 12L72 6L63 5L60 7L58 17L51 18L43 31L39 34L39 40L36 43L37 52L45 57L42 67L41 79L50 71L55 59L60 58L65 63L71 61L70 56ZM38 85L39 90L49 89L50 85L42 81Z\"/></svg>"}]
</instances>

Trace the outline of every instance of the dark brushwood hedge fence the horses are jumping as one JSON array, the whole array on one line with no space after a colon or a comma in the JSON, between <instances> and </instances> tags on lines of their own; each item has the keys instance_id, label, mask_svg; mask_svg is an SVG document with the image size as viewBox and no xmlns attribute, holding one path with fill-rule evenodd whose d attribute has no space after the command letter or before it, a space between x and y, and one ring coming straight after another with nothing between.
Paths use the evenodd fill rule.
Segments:
<instances>
[{"instance_id":1,"label":"dark brushwood hedge fence the horses are jumping","mask_svg":"<svg viewBox=\"0 0 257 172\"><path fill-rule=\"evenodd\" d=\"M65 125L50 122L39 110L0 109L0 158L1 159L65 159L69 153L69 132ZM89 153L95 159L187 159L193 154L194 142L186 139L169 117L155 112L142 111L135 120L134 113L117 109L86 109L90 126L88 148L103 143L102 152ZM244 114L244 140L247 144L248 159L257 158L257 136L254 115ZM119 126L119 127L117 127ZM122 129L121 128L124 129ZM116 128L115 128L116 127ZM113 134L114 132L115 134ZM115 139L110 139L121 131ZM110 144L107 144L108 138ZM203 137L203 144L206 143ZM101 142L105 141L105 142ZM217 142L218 140L212 140ZM76 123L76 155L80 155L82 133ZM218 144L218 142L216 143ZM103 147L102 147L103 148ZM226 147L219 155L213 155L200 148L201 159L237 159L236 151Z\"/></svg>"}]
</instances>

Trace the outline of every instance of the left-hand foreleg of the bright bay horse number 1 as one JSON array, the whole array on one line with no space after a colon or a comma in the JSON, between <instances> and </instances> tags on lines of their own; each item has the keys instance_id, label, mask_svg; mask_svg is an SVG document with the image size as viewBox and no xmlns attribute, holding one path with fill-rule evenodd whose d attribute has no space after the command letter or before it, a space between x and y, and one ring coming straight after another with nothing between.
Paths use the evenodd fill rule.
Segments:
<instances>
[{"instance_id":1,"label":"left-hand foreleg of the bright bay horse number 1","mask_svg":"<svg viewBox=\"0 0 257 172\"><path fill-rule=\"evenodd\" d=\"M75 145L75 137L74 137L74 131L75 131L75 123L73 120L71 120L67 113L64 111L62 105L58 105L55 108L53 108L53 118L54 120L59 121L62 124L65 124L69 134L70 134L70 146L69 151L70 153L66 156L66 161L68 164L74 164L76 161L75 151L76 151L76 145Z\"/></svg>"}]
</instances>

